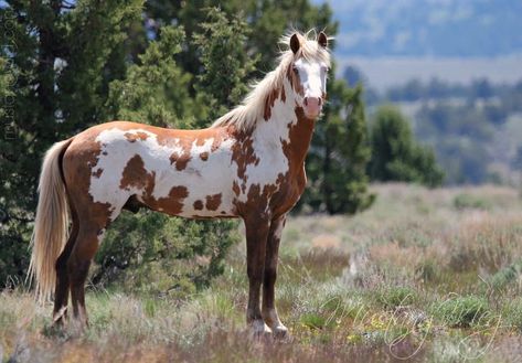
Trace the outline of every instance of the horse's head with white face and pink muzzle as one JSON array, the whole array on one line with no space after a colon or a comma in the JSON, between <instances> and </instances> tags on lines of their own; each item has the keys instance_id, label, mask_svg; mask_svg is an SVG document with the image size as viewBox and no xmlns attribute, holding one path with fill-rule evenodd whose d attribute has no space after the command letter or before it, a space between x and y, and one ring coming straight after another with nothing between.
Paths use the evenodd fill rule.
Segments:
<instances>
[{"instance_id":1,"label":"horse's head with white face and pink muzzle","mask_svg":"<svg viewBox=\"0 0 522 363\"><path fill-rule=\"evenodd\" d=\"M298 106L308 118L317 118L327 96L327 75L330 67L328 36L320 32L310 40L295 33L289 39L294 61L290 64L291 83Z\"/></svg>"}]
</instances>

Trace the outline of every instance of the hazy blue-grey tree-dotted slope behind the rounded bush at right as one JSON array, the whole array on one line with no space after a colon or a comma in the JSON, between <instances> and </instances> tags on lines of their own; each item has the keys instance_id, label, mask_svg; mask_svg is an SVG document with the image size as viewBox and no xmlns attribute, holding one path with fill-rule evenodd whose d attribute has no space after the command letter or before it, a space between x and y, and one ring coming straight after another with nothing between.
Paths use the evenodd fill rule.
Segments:
<instances>
[{"instance_id":1,"label":"hazy blue-grey tree-dotted slope behind the rounded bush at right","mask_svg":"<svg viewBox=\"0 0 522 363\"><path fill-rule=\"evenodd\" d=\"M350 85L365 85L364 99L372 109L387 103L416 109L408 120L413 132L433 147L446 183L520 182L522 81L499 85L480 78L462 85L411 79L376 92L354 66L343 77Z\"/></svg>"}]
</instances>

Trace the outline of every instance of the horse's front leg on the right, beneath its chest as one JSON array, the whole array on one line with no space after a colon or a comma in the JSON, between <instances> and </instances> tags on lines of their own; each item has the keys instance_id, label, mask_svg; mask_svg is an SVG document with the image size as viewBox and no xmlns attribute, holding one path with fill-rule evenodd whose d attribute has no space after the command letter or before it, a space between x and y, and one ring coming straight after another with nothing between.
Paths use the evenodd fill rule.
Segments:
<instances>
[{"instance_id":1,"label":"horse's front leg on the right, beneath its chest","mask_svg":"<svg viewBox=\"0 0 522 363\"><path fill-rule=\"evenodd\" d=\"M279 242L281 239L283 228L285 227L286 215L271 221L268 232L268 242L265 257L265 276L263 280L263 319L270 327L274 335L284 338L288 329L279 320L275 306L275 284L277 278L277 260L279 255Z\"/></svg>"}]
</instances>

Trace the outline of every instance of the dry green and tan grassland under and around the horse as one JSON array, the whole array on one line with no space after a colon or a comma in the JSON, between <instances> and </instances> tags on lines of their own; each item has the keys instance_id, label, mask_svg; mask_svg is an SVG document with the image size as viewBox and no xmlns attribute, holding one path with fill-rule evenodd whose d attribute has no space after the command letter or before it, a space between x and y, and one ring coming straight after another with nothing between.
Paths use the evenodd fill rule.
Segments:
<instances>
[{"instance_id":1,"label":"dry green and tan grassland under and around the horse","mask_svg":"<svg viewBox=\"0 0 522 363\"><path fill-rule=\"evenodd\" d=\"M3 291L2 362L510 362L520 356L518 191L403 184L373 191L375 205L355 216L289 218L276 302L290 340L249 338L239 244L223 276L183 298L132 296L117 286L90 289L90 325L82 334L74 327L50 329L50 305L35 305L20 289ZM472 197L462 202L462 195Z\"/></svg>"}]
</instances>

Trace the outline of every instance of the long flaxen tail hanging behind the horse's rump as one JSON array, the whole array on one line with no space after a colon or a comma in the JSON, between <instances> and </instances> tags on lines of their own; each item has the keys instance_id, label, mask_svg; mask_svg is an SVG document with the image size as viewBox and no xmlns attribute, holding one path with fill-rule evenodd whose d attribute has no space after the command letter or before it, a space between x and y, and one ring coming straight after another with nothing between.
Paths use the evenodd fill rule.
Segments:
<instances>
[{"instance_id":1,"label":"long flaxen tail hanging behind the horse's rump","mask_svg":"<svg viewBox=\"0 0 522 363\"><path fill-rule=\"evenodd\" d=\"M31 238L28 279L36 282L40 301L51 298L56 280L54 265L67 242L68 203L62 179L61 158L72 139L56 142L45 153L39 183L36 218Z\"/></svg>"}]
</instances>

